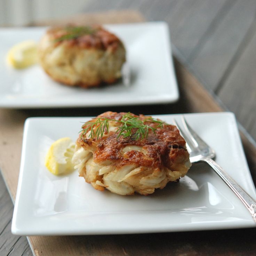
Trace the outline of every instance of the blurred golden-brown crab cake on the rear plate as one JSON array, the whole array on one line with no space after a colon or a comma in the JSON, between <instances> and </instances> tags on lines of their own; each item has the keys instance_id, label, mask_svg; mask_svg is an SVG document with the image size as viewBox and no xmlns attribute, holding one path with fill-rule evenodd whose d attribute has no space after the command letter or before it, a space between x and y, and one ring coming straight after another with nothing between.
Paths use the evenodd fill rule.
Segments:
<instances>
[{"instance_id":1,"label":"blurred golden-brown crab cake on the rear plate","mask_svg":"<svg viewBox=\"0 0 256 256\"><path fill-rule=\"evenodd\" d=\"M51 28L38 52L41 66L52 79L81 87L115 82L126 59L121 40L99 26Z\"/></svg>"}]
</instances>

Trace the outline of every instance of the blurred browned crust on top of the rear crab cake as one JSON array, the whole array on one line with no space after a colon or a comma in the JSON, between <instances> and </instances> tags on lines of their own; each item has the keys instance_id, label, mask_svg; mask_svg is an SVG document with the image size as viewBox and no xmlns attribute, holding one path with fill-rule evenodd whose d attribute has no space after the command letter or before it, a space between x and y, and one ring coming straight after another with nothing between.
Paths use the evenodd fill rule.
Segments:
<instances>
[{"instance_id":1,"label":"blurred browned crust on top of the rear crab cake","mask_svg":"<svg viewBox=\"0 0 256 256\"><path fill-rule=\"evenodd\" d=\"M116 35L106 31L101 26L86 26L84 28L88 29L88 33L80 32L77 34L70 32L72 28L83 27L54 27L49 29L47 34L56 41L56 45L66 43L70 47L78 46L83 49L110 49L114 51L120 44L122 45L122 42Z\"/></svg>"}]
</instances>

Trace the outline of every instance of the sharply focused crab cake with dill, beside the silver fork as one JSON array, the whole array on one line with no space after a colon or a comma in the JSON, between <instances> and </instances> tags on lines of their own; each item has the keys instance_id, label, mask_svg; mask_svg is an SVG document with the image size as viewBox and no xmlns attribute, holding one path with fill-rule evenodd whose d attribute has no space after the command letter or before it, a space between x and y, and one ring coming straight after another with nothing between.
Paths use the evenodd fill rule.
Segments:
<instances>
[{"instance_id":1,"label":"sharply focused crab cake with dill, beside the silver fork","mask_svg":"<svg viewBox=\"0 0 256 256\"><path fill-rule=\"evenodd\" d=\"M125 123L128 129L120 129ZM97 190L151 194L183 177L191 166L179 130L159 119L109 111L82 129L72 162Z\"/></svg>"}]
</instances>

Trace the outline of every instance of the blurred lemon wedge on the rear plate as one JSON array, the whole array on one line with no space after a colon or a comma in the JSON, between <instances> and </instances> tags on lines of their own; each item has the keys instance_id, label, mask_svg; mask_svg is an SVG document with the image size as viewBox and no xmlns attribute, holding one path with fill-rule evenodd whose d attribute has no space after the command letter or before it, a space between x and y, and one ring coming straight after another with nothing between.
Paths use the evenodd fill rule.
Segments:
<instances>
[{"instance_id":1,"label":"blurred lemon wedge on the rear plate","mask_svg":"<svg viewBox=\"0 0 256 256\"><path fill-rule=\"evenodd\" d=\"M33 40L17 43L7 53L8 63L16 69L34 65L37 59L37 43Z\"/></svg>"}]
</instances>

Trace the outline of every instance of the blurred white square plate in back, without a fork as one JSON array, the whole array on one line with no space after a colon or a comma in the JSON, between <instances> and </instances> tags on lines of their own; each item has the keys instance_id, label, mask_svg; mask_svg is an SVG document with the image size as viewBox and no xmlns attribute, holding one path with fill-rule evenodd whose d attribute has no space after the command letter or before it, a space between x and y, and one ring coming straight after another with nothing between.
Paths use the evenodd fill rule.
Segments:
<instances>
[{"instance_id":1,"label":"blurred white square plate in back, without a fork","mask_svg":"<svg viewBox=\"0 0 256 256\"><path fill-rule=\"evenodd\" d=\"M0 107L89 107L175 102L179 94L167 23L112 24L105 27L125 44L131 73L130 86L119 81L99 88L74 88L51 80L40 65L15 70L6 62L7 51L23 40L39 41L46 27L2 28Z\"/></svg>"}]
</instances>

